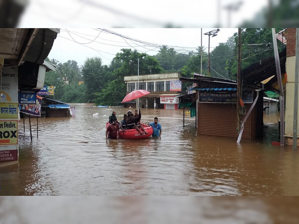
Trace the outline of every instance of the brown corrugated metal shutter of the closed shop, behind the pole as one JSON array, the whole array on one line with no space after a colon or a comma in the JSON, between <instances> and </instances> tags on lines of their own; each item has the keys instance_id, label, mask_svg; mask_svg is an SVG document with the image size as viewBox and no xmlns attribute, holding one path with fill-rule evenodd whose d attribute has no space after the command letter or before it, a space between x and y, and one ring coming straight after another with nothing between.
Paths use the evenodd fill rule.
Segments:
<instances>
[{"instance_id":1,"label":"brown corrugated metal shutter of the closed shop, behind the pole","mask_svg":"<svg viewBox=\"0 0 299 224\"><path fill-rule=\"evenodd\" d=\"M246 105L246 111L250 105ZM243 115L245 116L245 115ZM237 138L236 104L199 103L199 134ZM251 139L251 115L249 115L242 138Z\"/></svg>"}]
</instances>

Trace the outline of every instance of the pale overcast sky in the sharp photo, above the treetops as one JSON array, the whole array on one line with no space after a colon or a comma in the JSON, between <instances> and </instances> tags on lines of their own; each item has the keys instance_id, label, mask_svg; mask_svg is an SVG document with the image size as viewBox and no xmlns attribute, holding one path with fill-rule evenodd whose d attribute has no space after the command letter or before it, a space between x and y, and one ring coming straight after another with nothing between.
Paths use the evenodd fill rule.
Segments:
<instances>
[{"instance_id":1,"label":"pale overcast sky in the sharp photo, above the treetops","mask_svg":"<svg viewBox=\"0 0 299 224\"><path fill-rule=\"evenodd\" d=\"M208 36L204 33L214 29L217 28L202 29L202 45L206 52L208 52ZM196 52L196 48L201 45L200 28L108 28L107 30L142 42L155 43L155 47L107 33L105 30L101 32L101 29L61 28L48 57L62 63L75 60L78 65L83 65L87 57L99 56L103 65L109 65L122 48L137 49L139 52L155 55L158 53L159 45L174 47L180 53L188 53L190 50ZM236 32L237 28L220 29L217 36L210 38L210 52Z\"/></svg>"}]
</instances>

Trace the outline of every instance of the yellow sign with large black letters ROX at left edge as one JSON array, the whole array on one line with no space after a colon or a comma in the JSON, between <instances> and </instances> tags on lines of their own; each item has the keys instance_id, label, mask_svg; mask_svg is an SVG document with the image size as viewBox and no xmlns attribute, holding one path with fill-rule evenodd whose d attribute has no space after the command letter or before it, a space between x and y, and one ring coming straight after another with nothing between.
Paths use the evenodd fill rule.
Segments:
<instances>
[{"instance_id":1,"label":"yellow sign with large black letters ROX at left edge","mask_svg":"<svg viewBox=\"0 0 299 224\"><path fill-rule=\"evenodd\" d=\"M18 144L18 121L0 121L0 145Z\"/></svg>"}]
</instances>

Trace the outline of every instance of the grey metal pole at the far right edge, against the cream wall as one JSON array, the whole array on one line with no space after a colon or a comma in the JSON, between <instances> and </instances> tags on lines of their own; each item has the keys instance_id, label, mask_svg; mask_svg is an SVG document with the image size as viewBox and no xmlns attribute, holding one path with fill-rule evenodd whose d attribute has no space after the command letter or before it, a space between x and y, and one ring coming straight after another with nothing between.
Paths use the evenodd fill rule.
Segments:
<instances>
[{"instance_id":1,"label":"grey metal pole at the far right edge, against the cream wall","mask_svg":"<svg viewBox=\"0 0 299 224\"><path fill-rule=\"evenodd\" d=\"M294 115L293 115L293 149L297 149L298 127L298 69L299 69L299 29L296 28L296 58L295 58L295 92L294 92ZM281 122L281 121L280 121Z\"/></svg>"}]
</instances>

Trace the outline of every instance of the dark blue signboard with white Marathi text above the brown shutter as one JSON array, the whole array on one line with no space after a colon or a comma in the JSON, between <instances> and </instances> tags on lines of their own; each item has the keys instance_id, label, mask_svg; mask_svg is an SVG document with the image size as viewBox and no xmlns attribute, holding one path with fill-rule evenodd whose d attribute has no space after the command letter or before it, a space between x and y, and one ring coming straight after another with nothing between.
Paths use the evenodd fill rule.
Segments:
<instances>
[{"instance_id":1,"label":"dark blue signboard with white Marathi text above the brown shutter","mask_svg":"<svg viewBox=\"0 0 299 224\"><path fill-rule=\"evenodd\" d=\"M244 93L244 92L243 92ZM253 102L253 92L242 94L242 101L244 103ZM237 93L199 93L199 102L205 103L236 103L237 102Z\"/></svg>"}]
</instances>

